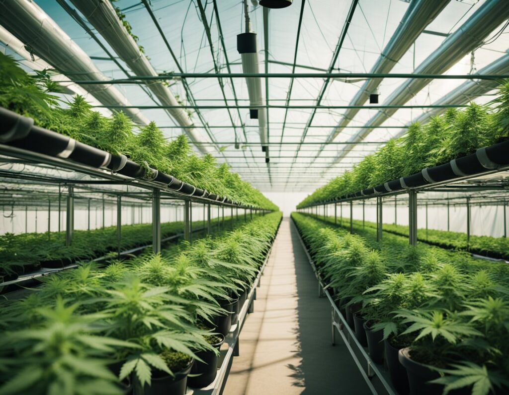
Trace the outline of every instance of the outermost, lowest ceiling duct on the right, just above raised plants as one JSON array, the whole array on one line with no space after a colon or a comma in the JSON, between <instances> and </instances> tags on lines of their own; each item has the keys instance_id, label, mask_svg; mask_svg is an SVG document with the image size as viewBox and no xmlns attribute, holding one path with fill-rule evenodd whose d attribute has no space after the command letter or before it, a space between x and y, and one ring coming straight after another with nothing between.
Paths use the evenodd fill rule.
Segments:
<instances>
[{"instance_id":1,"label":"outermost, lowest ceiling duct on the right, just above raised plants","mask_svg":"<svg viewBox=\"0 0 509 395\"><path fill-rule=\"evenodd\" d=\"M483 67L475 74L485 75L497 75L509 73L509 53L499 57L495 62L490 63L488 66ZM467 104L473 99L479 96L486 95L491 90L495 89L500 85L500 81L492 79L481 79L481 80L468 80L463 82L457 88L451 90L447 95L433 103L434 106L443 106L450 104ZM427 123L431 117L439 115L445 109L444 108L432 108L417 117L413 122L418 122L421 125ZM395 138L398 138L406 133L406 129L403 129Z\"/></svg>"}]
</instances>

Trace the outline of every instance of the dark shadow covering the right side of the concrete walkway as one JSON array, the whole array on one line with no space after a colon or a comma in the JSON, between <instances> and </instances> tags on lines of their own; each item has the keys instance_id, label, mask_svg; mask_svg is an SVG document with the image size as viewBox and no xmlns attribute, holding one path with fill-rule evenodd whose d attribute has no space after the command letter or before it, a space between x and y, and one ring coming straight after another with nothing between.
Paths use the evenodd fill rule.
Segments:
<instances>
[{"instance_id":1,"label":"dark shadow covering the right side of the concrete walkway","mask_svg":"<svg viewBox=\"0 0 509 395\"><path fill-rule=\"evenodd\" d=\"M350 353L341 340L331 344L331 310L326 298L318 297L318 283L299 240L297 229L290 221L291 247L295 256L297 282L298 366L287 364L292 370L293 385L302 387L302 394L369 394ZM337 338L336 338L337 339Z\"/></svg>"}]
</instances>

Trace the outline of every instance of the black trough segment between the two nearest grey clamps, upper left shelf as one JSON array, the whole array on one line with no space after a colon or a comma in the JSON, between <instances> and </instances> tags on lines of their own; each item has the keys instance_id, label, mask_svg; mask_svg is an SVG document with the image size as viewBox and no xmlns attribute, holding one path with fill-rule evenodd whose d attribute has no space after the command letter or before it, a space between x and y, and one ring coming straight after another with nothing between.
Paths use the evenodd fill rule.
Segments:
<instances>
[{"instance_id":1,"label":"black trough segment between the two nearest grey clamps, upper left shelf","mask_svg":"<svg viewBox=\"0 0 509 395\"><path fill-rule=\"evenodd\" d=\"M8 144L13 147L23 148L53 157L63 153L72 145L70 137L38 126L33 126L25 138L11 141Z\"/></svg>"}]
</instances>

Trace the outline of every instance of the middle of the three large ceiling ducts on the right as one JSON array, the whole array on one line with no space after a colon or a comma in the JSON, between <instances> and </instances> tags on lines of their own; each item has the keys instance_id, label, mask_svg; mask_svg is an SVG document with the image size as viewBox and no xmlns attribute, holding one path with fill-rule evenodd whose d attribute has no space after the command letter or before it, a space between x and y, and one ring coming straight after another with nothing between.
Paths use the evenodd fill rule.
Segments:
<instances>
[{"instance_id":1,"label":"middle of the three large ceiling ducts on the right","mask_svg":"<svg viewBox=\"0 0 509 395\"><path fill-rule=\"evenodd\" d=\"M414 72L416 74L445 73L465 55L482 45L483 40L508 17L509 2L506 0L485 2L456 32L448 36L436 51L423 60ZM384 102L384 105L394 107L378 111L367 121L365 129L360 130L348 140L348 144L337 153L331 164L340 162L355 147L356 143L362 141L372 132L373 126L382 125L398 111L398 106L403 106L432 80L432 78L407 79Z\"/></svg>"}]
</instances>

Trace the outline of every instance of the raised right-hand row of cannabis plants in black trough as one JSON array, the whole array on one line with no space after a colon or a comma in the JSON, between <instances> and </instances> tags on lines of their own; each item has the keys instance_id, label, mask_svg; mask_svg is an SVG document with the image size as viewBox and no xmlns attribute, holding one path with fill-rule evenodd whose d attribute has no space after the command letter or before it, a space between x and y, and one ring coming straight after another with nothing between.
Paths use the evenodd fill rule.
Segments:
<instances>
[{"instance_id":1,"label":"raised right-hand row of cannabis plants in black trough","mask_svg":"<svg viewBox=\"0 0 509 395\"><path fill-rule=\"evenodd\" d=\"M509 81L487 106L448 109L426 125L414 123L351 171L308 195L298 208L421 187L509 165Z\"/></svg>"}]
</instances>

